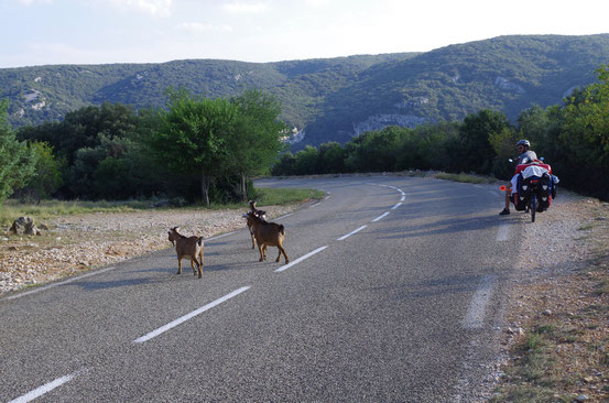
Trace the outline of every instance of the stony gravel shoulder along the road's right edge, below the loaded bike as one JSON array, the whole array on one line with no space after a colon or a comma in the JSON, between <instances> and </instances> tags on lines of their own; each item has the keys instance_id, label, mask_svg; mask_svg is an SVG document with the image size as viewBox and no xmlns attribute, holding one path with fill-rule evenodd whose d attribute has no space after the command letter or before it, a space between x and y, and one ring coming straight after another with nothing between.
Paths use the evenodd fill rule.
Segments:
<instances>
[{"instance_id":1,"label":"stony gravel shoulder along the road's right edge, below the loaded bike","mask_svg":"<svg viewBox=\"0 0 609 403\"><path fill-rule=\"evenodd\" d=\"M535 222L528 214L518 215L524 242L510 287L502 353L488 391L529 388L550 393L550 401L609 402L609 293L598 292L599 284L609 284L609 204L561 192ZM520 346L543 326L556 334L553 368L543 377L554 383L545 388L552 392L540 388L543 382L504 377L523 366Z\"/></svg>"}]
</instances>

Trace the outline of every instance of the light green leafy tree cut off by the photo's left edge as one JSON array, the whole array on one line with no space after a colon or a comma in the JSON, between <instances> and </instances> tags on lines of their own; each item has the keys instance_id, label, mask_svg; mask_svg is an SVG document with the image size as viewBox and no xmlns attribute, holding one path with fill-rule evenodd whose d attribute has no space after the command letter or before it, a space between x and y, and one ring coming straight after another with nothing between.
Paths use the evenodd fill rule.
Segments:
<instances>
[{"instance_id":1,"label":"light green leafy tree cut off by the photo's left edge","mask_svg":"<svg viewBox=\"0 0 609 403\"><path fill-rule=\"evenodd\" d=\"M0 204L34 177L36 153L17 140L8 121L8 101L0 100Z\"/></svg>"}]
</instances>

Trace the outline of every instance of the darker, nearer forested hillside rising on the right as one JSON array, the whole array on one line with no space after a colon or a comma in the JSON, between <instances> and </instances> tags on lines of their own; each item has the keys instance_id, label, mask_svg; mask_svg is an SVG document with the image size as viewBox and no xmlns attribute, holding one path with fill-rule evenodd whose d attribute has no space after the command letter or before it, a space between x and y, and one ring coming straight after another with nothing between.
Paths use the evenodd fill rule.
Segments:
<instances>
[{"instance_id":1,"label":"darker, nearer forested hillside rising on the right","mask_svg":"<svg viewBox=\"0 0 609 403\"><path fill-rule=\"evenodd\" d=\"M608 62L603 34L500 36L377 64L326 97L325 113L307 127L306 139L319 144L334 133L348 141L371 116L383 116L377 126L392 119L416 123L459 120L489 108L513 120L532 104L558 104L574 87L595 81L594 70Z\"/></svg>"}]
</instances>

